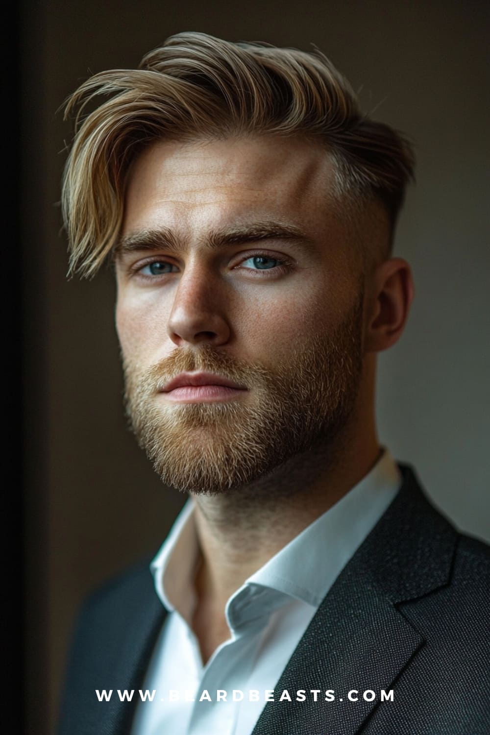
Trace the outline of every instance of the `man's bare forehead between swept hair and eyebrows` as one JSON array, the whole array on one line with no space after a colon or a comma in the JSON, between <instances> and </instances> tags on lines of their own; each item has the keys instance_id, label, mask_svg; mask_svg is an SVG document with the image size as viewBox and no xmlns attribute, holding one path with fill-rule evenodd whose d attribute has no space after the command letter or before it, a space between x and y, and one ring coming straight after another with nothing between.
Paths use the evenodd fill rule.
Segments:
<instances>
[{"instance_id":1,"label":"man's bare forehead between swept hair and eyebrows","mask_svg":"<svg viewBox=\"0 0 490 735\"><path fill-rule=\"evenodd\" d=\"M305 140L241 137L156 142L131 165L123 232L274 216L315 229L334 214L334 162Z\"/></svg>"}]
</instances>

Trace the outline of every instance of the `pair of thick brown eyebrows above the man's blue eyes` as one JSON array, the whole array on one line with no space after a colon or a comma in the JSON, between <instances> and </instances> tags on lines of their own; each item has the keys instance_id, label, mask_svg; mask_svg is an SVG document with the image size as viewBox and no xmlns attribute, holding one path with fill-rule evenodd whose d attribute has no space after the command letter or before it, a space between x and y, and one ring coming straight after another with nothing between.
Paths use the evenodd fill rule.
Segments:
<instances>
[{"instance_id":1,"label":"pair of thick brown eyebrows above the man's blue eyes","mask_svg":"<svg viewBox=\"0 0 490 735\"><path fill-rule=\"evenodd\" d=\"M311 243L303 230L292 223L260 221L242 224L229 229L212 230L204 239L206 248L217 250L225 245L242 245L257 240L300 240ZM182 240L173 230L162 227L121 237L113 250L114 258L140 251L166 250L181 253L186 249Z\"/></svg>"}]
</instances>

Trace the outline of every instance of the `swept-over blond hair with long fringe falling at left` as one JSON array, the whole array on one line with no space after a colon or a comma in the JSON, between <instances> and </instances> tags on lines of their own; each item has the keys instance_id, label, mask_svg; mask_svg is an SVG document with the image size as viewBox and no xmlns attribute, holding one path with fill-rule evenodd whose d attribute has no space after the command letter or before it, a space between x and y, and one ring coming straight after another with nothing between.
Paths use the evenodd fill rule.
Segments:
<instances>
[{"instance_id":1,"label":"swept-over blond hair with long fringe falling at left","mask_svg":"<svg viewBox=\"0 0 490 735\"><path fill-rule=\"evenodd\" d=\"M139 68L87 79L68 98L65 119L73 112L62 182L70 274L93 276L113 250L129 165L156 140L255 134L317 140L334 161L334 194L350 202L378 198L392 233L413 178L406 137L363 115L349 83L316 48L178 33ZM391 240L392 234L390 247Z\"/></svg>"}]
</instances>

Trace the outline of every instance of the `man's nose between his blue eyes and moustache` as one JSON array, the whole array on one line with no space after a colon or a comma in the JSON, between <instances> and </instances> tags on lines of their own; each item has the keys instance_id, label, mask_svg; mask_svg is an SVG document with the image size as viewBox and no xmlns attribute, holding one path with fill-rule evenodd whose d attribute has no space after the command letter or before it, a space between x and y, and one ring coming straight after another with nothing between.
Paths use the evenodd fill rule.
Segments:
<instances>
[{"instance_id":1,"label":"man's nose between his blue eyes and moustache","mask_svg":"<svg viewBox=\"0 0 490 735\"><path fill-rule=\"evenodd\" d=\"M226 344L231 329L222 287L208 268L196 265L181 276L167 323L175 345Z\"/></svg>"}]
</instances>

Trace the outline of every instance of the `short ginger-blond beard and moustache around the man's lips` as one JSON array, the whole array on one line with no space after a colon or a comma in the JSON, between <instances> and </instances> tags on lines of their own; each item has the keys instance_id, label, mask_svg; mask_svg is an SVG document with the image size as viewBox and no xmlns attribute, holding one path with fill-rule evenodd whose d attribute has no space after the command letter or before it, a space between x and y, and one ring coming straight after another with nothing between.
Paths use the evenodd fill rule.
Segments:
<instances>
[{"instance_id":1,"label":"short ginger-blond beard and moustache around the man's lips","mask_svg":"<svg viewBox=\"0 0 490 735\"><path fill-rule=\"evenodd\" d=\"M182 492L215 494L251 485L318 445L328 454L359 390L362 306L361 294L331 334L292 345L275 369L208 344L176 348L146 370L123 359L126 414L162 481ZM248 391L220 403L166 402L162 387L193 370L217 373Z\"/></svg>"}]
</instances>

